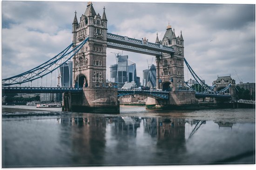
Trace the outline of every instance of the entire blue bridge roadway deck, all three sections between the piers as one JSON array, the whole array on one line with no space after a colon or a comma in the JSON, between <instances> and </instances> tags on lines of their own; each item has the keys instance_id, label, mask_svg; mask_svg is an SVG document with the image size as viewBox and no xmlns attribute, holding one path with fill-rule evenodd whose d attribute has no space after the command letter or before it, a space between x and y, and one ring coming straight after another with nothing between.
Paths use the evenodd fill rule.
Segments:
<instances>
[{"instance_id":1,"label":"entire blue bridge roadway deck, all three sections between the piers","mask_svg":"<svg viewBox=\"0 0 256 170\"><path fill-rule=\"evenodd\" d=\"M49 87L2 87L3 93L64 93L64 92L72 92L72 93L80 93L82 92L82 88L49 88ZM160 91L160 90L140 90L140 89L118 89L118 96L124 96L128 94L141 94L148 97L152 97L155 99L169 99L168 91ZM226 94L207 94L207 93L195 93L195 97L213 97L213 98L223 98L229 99L230 95Z\"/></svg>"}]
</instances>

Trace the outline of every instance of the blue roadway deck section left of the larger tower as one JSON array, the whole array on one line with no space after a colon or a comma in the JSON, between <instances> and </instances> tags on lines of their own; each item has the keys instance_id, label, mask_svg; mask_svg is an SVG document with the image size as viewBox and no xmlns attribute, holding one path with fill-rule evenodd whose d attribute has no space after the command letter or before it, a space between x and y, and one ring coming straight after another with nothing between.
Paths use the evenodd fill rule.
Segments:
<instances>
[{"instance_id":1,"label":"blue roadway deck section left of the larger tower","mask_svg":"<svg viewBox=\"0 0 256 170\"><path fill-rule=\"evenodd\" d=\"M7 93L64 93L82 92L82 88L38 88L38 87L2 87L2 92Z\"/></svg>"}]
</instances>

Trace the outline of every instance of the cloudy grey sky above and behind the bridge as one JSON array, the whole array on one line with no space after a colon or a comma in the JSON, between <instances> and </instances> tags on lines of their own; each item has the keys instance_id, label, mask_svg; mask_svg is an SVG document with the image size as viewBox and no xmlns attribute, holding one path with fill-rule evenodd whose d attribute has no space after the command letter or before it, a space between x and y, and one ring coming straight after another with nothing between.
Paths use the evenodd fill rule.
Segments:
<instances>
[{"instance_id":1,"label":"cloudy grey sky above and behind the bridge","mask_svg":"<svg viewBox=\"0 0 256 170\"><path fill-rule=\"evenodd\" d=\"M246 1L245 1L246 2ZM78 20L87 2L2 1L2 78L32 69L72 42L74 12ZM93 2L106 8L108 32L155 43L168 23L184 38L184 55L195 73L211 85L217 76L255 82L255 5ZM122 52L136 63L137 76L153 56L107 49L107 74ZM155 57L153 59L155 63ZM185 80L192 78L184 68ZM142 82L142 81L141 81Z\"/></svg>"}]
</instances>

